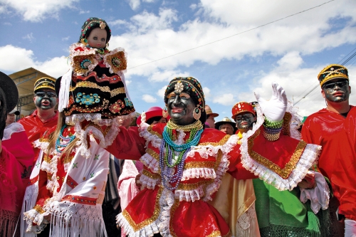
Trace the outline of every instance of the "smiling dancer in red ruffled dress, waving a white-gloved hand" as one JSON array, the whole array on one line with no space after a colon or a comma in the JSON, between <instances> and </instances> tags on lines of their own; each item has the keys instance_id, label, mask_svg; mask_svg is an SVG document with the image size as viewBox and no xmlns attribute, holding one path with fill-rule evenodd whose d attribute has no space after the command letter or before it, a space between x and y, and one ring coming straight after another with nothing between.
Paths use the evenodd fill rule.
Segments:
<instances>
[{"instance_id":1,"label":"smiling dancer in red ruffled dress, waving a white-gloved hand","mask_svg":"<svg viewBox=\"0 0 356 237\"><path fill-rule=\"evenodd\" d=\"M164 115L171 117L167 125L142 122L139 135L121 130L108 147L110 153L116 150L130 159L135 149L143 154L142 191L117 216L128 236L231 236L229 225L207 202L226 172L237 179L256 175L280 190L291 190L318 157L317 145L263 132L264 125L279 128L283 123L287 99L279 85L273 84L273 97L263 103L266 117L258 108L256 125L241 145L236 135L203 129L205 99L197 79L171 80L164 102Z\"/></svg>"}]
</instances>

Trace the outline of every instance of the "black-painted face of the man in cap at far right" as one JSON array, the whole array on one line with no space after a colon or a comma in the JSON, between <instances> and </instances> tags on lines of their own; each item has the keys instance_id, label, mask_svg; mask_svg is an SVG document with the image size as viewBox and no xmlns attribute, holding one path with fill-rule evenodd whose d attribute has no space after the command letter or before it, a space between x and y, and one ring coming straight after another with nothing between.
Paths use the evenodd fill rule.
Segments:
<instances>
[{"instance_id":1,"label":"black-painted face of the man in cap at far right","mask_svg":"<svg viewBox=\"0 0 356 237\"><path fill-rule=\"evenodd\" d=\"M325 83L322 87L322 94L330 102L346 101L350 97L351 88L345 79L334 79Z\"/></svg>"}]
</instances>

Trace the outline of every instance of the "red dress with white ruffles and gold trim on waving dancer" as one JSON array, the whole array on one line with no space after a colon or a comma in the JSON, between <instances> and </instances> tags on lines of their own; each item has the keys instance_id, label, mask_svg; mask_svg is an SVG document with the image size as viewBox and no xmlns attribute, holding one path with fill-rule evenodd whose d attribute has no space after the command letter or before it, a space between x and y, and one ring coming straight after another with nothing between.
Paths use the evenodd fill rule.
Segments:
<instances>
[{"instance_id":1,"label":"red dress with white ruffles and gold trim on waving dancer","mask_svg":"<svg viewBox=\"0 0 356 237\"><path fill-rule=\"evenodd\" d=\"M207 203L219 189L221 179L226 172L236 179L253 179L256 178L254 174L260 178L265 176L281 189L293 189L296 185L294 181L303 179L318 155L317 149L312 151L308 144L298 147L300 142L288 136L282 135L279 142L268 142L263 138L262 132L253 131L255 133L250 137L249 142L252 157L254 157L253 149L256 148L262 158L270 160L276 166L281 166L282 171L288 169L286 165L288 162L298 163L295 165L298 172L290 171L287 177L292 178L293 181L283 179L284 181L279 184L278 180L281 177L279 179L274 177L271 170L263 164L253 163L254 158L249 162L241 162L238 136L229 136L218 130L206 129L201 134L197 147L192 147L187 154L179 186L174 191L170 191L161 184L159 168L159 146L163 130L162 124L150 126L142 123L139 128L140 137L132 134L136 136L134 139L136 144L125 144L120 137L127 140L127 134L125 130L121 130L115 143L108 147L109 152L115 154L120 152L120 147L128 146L131 147L130 154L133 154L135 149L137 150L135 147L146 146L145 154L141 152L143 156L140 158L140 162L144 164L140 177L142 191L117 216L117 223L125 228L128 236L153 236L154 233L179 237L231 236L229 226L219 211ZM189 132L174 130L173 135L176 137L177 144L183 144L189 137ZM266 144L266 149L261 148L262 143ZM125 152L120 154L124 157L122 153ZM135 158L131 156L131 159ZM300 167L300 160L303 167ZM241 163L244 163L244 167ZM254 174L247 172L245 167Z\"/></svg>"}]
</instances>

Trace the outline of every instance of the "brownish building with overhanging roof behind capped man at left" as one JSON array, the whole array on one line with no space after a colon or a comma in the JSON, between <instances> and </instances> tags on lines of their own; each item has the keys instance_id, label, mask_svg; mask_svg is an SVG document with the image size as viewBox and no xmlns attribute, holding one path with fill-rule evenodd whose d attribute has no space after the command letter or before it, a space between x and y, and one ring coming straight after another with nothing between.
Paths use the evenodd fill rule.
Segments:
<instances>
[{"instance_id":1,"label":"brownish building with overhanging roof behind capped man at left","mask_svg":"<svg viewBox=\"0 0 356 237\"><path fill-rule=\"evenodd\" d=\"M18 110L35 110L36 105L33 102L33 86L39 78L53 78L51 75L42 73L35 68L27 68L19 72L12 73L9 77L14 80L14 83L19 90L19 102L17 104ZM56 80L56 78L53 78Z\"/></svg>"}]
</instances>

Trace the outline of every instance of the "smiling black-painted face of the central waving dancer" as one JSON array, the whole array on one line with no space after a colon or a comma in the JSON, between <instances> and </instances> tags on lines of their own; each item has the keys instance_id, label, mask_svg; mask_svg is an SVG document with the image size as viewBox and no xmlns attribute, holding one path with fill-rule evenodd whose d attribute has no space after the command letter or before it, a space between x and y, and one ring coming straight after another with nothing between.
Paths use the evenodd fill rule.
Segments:
<instances>
[{"instance_id":1,"label":"smiling black-painted face of the central waving dancer","mask_svg":"<svg viewBox=\"0 0 356 237\"><path fill-rule=\"evenodd\" d=\"M190 125L196 121L193 117L196 105L188 93L172 92L167 95L167 98L167 110L172 122L176 125Z\"/></svg>"}]
</instances>

